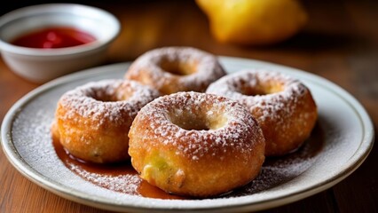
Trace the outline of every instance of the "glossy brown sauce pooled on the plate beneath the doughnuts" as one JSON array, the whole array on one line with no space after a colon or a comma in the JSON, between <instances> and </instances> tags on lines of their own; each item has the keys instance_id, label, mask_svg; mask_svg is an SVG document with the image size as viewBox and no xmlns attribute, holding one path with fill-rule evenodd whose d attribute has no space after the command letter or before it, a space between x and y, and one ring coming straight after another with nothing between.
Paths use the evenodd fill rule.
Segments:
<instances>
[{"instance_id":1,"label":"glossy brown sauce pooled on the plate beneath the doughnuts","mask_svg":"<svg viewBox=\"0 0 378 213\"><path fill-rule=\"evenodd\" d=\"M94 185L114 192L148 198L190 199L166 193L160 188L150 185L138 176L138 172L132 168L130 162L106 165L83 162L69 154L60 145L59 139L53 138L52 141L59 159L65 166L75 172L76 175L90 181ZM311 137L298 150L285 156L266 158L258 177L248 185L235 189L231 193L225 193L222 197L238 197L258 193L298 177L305 170L309 169L313 163L316 163L323 145L324 132L321 130L319 124L317 124L311 132Z\"/></svg>"}]
</instances>

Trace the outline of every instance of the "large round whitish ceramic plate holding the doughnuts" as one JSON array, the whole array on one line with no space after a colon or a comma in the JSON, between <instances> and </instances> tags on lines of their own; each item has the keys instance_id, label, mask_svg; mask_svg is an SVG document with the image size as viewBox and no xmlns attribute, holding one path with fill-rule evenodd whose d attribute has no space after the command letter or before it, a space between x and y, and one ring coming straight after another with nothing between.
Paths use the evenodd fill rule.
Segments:
<instances>
[{"instance_id":1,"label":"large round whitish ceramic plate holding the doughnuts","mask_svg":"<svg viewBox=\"0 0 378 213\"><path fill-rule=\"evenodd\" d=\"M349 93L319 76L291 67L250 59L220 59L229 73L248 67L265 67L299 78L311 89L319 107L318 125L323 130L323 145L301 172L256 193L203 200L161 200L116 193L75 175L59 160L51 144L50 125L57 101L65 91L83 83L122 78L129 63L67 75L28 93L4 117L1 129L4 153L25 177L52 193L101 209L119 211L269 209L319 193L342 181L364 162L374 143L373 124L365 109Z\"/></svg>"}]
</instances>

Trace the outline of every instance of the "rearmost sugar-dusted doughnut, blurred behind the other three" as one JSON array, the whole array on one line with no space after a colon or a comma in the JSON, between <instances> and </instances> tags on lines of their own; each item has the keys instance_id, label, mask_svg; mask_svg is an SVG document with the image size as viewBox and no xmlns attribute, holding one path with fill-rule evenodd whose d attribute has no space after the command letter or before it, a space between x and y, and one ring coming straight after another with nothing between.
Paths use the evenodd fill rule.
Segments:
<instances>
[{"instance_id":1,"label":"rearmost sugar-dusted doughnut, blurred behind the other three","mask_svg":"<svg viewBox=\"0 0 378 213\"><path fill-rule=\"evenodd\" d=\"M162 94L206 91L225 75L217 57L192 47L164 47L146 51L125 74L126 79L150 85Z\"/></svg>"}]
</instances>

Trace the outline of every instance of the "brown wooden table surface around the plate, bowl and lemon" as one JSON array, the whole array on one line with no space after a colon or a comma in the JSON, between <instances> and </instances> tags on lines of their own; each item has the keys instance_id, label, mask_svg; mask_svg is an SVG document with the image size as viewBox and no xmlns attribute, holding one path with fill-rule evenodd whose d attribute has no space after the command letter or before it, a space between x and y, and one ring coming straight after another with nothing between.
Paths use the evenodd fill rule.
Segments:
<instances>
[{"instance_id":1,"label":"brown wooden table surface around the plate, bowl and lemon","mask_svg":"<svg viewBox=\"0 0 378 213\"><path fill-rule=\"evenodd\" d=\"M106 3L107 2L107 3ZM378 3L305 1L310 21L303 32L269 47L217 43L206 16L193 1L84 2L113 12L122 33L107 64L136 59L169 45L193 46L218 55L261 59L323 76L356 97L378 123ZM331 2L331 3L329 3ZM0 60L0 121L7 110L39 84L14 75ZM378 151L334 187L267 212L377 212ZM105 212L67 201L20 175L0 152L0 212Z\"/></svg>"}]
</instances>

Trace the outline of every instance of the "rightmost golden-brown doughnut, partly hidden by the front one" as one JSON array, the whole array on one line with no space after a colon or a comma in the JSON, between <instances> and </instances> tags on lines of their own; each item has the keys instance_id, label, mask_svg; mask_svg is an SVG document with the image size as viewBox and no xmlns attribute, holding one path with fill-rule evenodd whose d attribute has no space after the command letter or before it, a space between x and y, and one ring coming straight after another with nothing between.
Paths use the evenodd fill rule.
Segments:
<instances>
[{"instance_id":1,"label":"rightmost golden-brown doughnut, partly hidden by the front one","mask_svg":"<svg viewBox=\"0 0 378 213\"><path fill-rule=\"evenodd\" d=\"M265 156L294 152L311 134L317 106L303 83L276 71L249 69L209 85L213 93L246 106L264 133Z\"/></svg>"}]
</instances>

